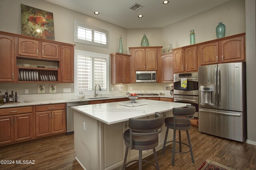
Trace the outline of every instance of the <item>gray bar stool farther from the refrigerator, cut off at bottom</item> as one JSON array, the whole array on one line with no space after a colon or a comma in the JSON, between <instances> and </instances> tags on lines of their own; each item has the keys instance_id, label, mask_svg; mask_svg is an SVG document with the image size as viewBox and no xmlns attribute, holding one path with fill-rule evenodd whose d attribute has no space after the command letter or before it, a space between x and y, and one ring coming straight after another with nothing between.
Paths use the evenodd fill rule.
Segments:
<instances>
[{"instance_id":1,"label":"gray bar stool farther from the refrigerator, cut off at bottom","mask_svg":"<svg viewBox=\"0 0 256 170\"><path fill-rule=\"evenodd\" d=\"M124 156L123 170L131 162L139 162L139 170L142 169L142 161L152 164L159 170L158 160L156 156L156 147L158 146L158 134L162 131L164 124L164 116L156 112L153 119L129 119L130 129L124 132L124 144L126 151ZM139 150L139 159L132 160L126 164L129 148ZM153 149L156 166L149 161L142 160L142 150Z\"/></svg>"}]
</instances>

